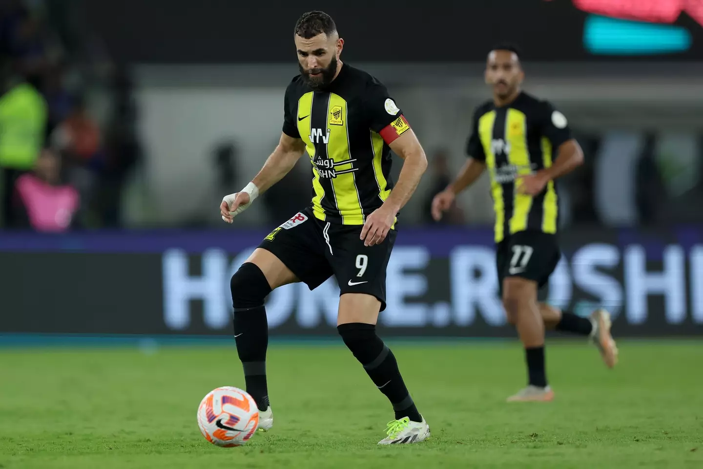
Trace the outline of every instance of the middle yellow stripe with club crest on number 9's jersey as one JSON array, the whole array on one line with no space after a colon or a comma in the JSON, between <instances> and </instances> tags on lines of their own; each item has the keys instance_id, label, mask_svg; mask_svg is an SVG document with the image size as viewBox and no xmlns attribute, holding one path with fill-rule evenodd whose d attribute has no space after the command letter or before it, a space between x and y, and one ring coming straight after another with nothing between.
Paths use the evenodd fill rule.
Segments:
<instances>
[{"instance_id":1,"label":"middle yellow stripe with club crest on number 9's jersey","mask_svg":"<svg viewBox=\"0 0 703 469\"><path fill-rule=\"evenodd\" d=\"M363 210L361 210L359 191L354 179L354 172L359 169L360 162L352 160L349 153L347 101L344 101L341 96L330 93L327 115L327 128L330 130L327 156L335 161L336 177L332 178L332 188L335 192L337 208L342 215L342 224L363 225Z\"/></svg>"}]
</instances>

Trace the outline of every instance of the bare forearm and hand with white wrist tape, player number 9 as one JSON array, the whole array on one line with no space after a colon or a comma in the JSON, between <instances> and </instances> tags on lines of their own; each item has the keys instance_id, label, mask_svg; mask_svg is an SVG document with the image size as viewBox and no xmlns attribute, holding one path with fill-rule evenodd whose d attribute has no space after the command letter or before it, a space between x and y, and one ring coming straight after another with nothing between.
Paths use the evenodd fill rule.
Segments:
<instances>
[{"instance_id":1,"label":"bare forearm and hand with white wrist tape, player number 9","mask_svg":"<svg viewBox=\"0 0 703 469\"><path fill-rule=\"evenodd\" d=\"M259 174L240 192L226 195L222 199L220 204L222 219L227 223L232 223L236 215L252 205L259 193L263 193L283 179L283 176L293 169L304 151L305 144L301 139L295 139L285 133L281 134L276 150L273 150L271 156L266 159Z\"/></svg>"}]
</instances>

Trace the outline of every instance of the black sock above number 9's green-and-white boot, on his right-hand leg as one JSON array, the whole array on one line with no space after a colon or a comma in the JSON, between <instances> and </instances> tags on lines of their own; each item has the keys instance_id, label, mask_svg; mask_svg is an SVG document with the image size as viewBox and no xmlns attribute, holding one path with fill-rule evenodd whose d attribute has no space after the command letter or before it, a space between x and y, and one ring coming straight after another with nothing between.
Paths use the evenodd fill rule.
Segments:
<instances>
[{"instance_id":1,"label":"black sock above number 9's green-and-white boot, on his right-hand leg","mask_svg":"<svg viewBox=\"0 0 703 469\"><path fill-rule=\"evenodd\" d=\"M423 418L410 397L403 377L398 370L393 352L376 335L376 326L366 323L349 323L337 326L344 344L363 365L369 378L385 394L395 412L396 420L408 417L413 422Z\"/></svg>"}]
</instances>

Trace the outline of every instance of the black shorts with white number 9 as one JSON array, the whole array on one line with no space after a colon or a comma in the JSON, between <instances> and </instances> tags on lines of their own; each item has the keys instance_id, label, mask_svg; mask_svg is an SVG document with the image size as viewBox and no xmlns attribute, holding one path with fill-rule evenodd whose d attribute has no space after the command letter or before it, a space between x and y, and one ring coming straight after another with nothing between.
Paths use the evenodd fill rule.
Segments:
<instances>
[{"instance_id":1,"label":"black shorts with white number 9","mask_svg":"<svg viewBox=\"0 0 703 469\"><path fill-rule=\"evenodd\" d=\"M308 207L271 231L259 248L276 255L297 278L314 290L330 276L340 295L366 293L386 308L386 267L397 232L382 243L364 246L362 225L342 225L317 219Z\"/></svg>"}]
</instances>

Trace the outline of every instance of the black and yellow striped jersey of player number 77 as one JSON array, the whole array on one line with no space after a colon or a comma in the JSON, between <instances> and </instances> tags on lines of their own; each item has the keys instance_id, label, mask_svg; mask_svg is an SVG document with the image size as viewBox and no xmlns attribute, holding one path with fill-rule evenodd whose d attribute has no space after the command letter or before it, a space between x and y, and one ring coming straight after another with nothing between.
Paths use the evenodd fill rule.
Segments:
<instances>
[{"instance_id":1,"label":"black and yellow striped jersey of player number 77","mask_svg":"<svg viewBox=\"0 0 703 469\"><path fill-rule=\"evenodd\" d=\"M485 162L491 175L496 243L527 229L557 232L559 207L554 181L531 197L515 191L515 180L550 167L557 148L569 139L572 134L566 117L548 101L527 93L501 108L489 101L475 110L466 151Z\"/></svg>"}]
</instances>

